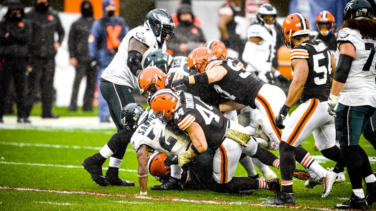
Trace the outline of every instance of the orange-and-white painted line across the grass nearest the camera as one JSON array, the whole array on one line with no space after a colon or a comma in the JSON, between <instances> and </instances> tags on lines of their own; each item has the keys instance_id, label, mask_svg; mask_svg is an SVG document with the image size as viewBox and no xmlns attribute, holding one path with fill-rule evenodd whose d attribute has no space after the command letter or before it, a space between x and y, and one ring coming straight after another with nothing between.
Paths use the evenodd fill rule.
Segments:
<instances>
[{"instance_id":1,"label":"orange-and-white painted line across the grass nearest the camera","mask_svg":"<svg viewBox=\"0 0 376 211\"><path fill-rule=\"evenodd\" d=\"M41 188L21 188L21 187L9 187L0 186L0 190L18 190L18 191L33 191L33 192L43 192L43 193L58 193L58 194L74 194L74 195L89 195L89 196L104 196L104 197L122 197L130 199L141 199L141 200L159 200L167 202L190 202L196 204L214 204L214 205L249 205L249 206L270 206L279 208L291 208L291 209L312 209L312 210L335 210L325 207L315 207L315 206L284 206L284 205L263 205L261 203L247 203L247 202L226 202L220 200L204 200L204 199L188 199L188 198L176 198L176 197L159 197L159 196L139 196L131 194L118 194L118 193L97 193L97 192L85 192L85 191L71 191L71 190L52 190L52 189L41 189Z\"/></svg>"}]
</instances>

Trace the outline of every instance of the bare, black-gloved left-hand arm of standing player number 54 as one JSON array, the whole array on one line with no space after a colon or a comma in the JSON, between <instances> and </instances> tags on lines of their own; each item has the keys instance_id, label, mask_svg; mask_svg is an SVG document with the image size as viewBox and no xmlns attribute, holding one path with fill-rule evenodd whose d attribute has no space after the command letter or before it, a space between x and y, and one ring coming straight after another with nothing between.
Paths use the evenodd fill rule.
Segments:
<instances>
[{"instance_id":1,"label":"bare, black-gloved left-hand arm of standing player number 54","mask_svg":"<svg viewBox=\"0 0 376 211\"><path fill-rule=\"evenodd\" d=\"M302 95L304 84L308 77L308 62L306 59L293 59L291 65L294 68L293 81L288 88L287 99L280 109L276 119L276 125L280 129L284 129L283 121L288 115L288 110L298 101Z\"/></svg>"}]
</instances>

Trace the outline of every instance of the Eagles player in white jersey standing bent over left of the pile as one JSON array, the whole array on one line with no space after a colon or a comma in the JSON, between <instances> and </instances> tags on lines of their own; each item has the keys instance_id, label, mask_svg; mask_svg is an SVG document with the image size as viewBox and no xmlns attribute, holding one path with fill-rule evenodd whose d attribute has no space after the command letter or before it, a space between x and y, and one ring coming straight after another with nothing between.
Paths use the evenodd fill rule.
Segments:
<instances>
[{"instance_id":1,"label":"Eagles player in white jersey standing bent over left of the pile","mask_svg":"<svg viewBox=\"0 0 376 211\"><path fill-rule=\"evenodd\" d=\"M100 77L100 91L110 109L117 133L96 154L82 161L83 167L99 185L134 185L118 177L118 169L132 134L123 130L120 112L124 106L135 102L133 89L137 87L136 75L141 71L145 57L156 49L166 49L165 40L173 36L174 23L163 9L147 13L143 26L130 30L120 43L118 52ZM102 165L108 157L109 168L102 174Z\"/></svg>"}]
</instances>

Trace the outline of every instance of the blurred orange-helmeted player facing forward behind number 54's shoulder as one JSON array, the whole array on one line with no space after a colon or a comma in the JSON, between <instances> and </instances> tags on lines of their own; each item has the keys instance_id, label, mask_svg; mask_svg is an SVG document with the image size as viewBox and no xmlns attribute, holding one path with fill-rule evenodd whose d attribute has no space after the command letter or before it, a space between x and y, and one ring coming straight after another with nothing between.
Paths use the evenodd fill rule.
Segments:
<instances>
[{"instance_id":1,"label":"blurred orange-helmeted player facing forward behind number 54's shoulder","mask_svg":"<svg viewBox=\"0 0 376 211\"><path fill-rule=\"evenodd\" d=\"M337 50L337 39L334 34L335 20L334 16L324 10L316 17L317 32L312 32L310 39L321 39L329 47L329 50L334 55Z\"/></svg>"}]
</instances>

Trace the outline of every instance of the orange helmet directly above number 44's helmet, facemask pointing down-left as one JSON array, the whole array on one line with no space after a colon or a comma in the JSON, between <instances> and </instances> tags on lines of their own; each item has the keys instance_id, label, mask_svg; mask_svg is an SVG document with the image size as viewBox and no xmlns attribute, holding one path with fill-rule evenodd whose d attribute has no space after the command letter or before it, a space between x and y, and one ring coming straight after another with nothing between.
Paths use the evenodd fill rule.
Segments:
<instances>
[{"instance_id":1,"label":"orange helmet directly above number 44's helmet, facemask pointing down-left","mask_svg":"<svg viewBox=\"0 0 376 211\"><path fill-rule=\"evenodd\" d=\"M164 89L165 78L166 74L154 66L143 69L137 77L141 95L149 99L156 91Z\"/></svg>"}]
</instances>

